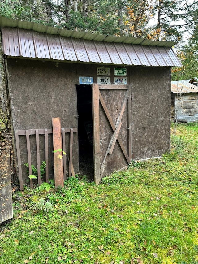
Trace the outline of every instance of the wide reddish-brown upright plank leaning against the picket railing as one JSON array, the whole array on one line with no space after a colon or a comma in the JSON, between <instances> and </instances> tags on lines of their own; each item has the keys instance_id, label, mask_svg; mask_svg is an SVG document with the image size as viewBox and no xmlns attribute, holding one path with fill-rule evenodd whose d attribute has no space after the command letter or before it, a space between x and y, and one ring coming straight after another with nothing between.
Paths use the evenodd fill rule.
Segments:
<instances>
[{"instance_id":1,"label":"wide reddish-brown upright plank leaning against the picket railing","mask_svg":"<svg viewBox=\"0 0 198 264\"><path fill-rule=\"evenodd\" d=\"M54 150L62 149L62 137L61 137L61 119L56 117L52 119L53 129L53 146ZM55 188L58 186L64 187L64 174L63 174L63 160L58 158L59 152L54 153L54 181Z\"/></svg>"}]
</instances>

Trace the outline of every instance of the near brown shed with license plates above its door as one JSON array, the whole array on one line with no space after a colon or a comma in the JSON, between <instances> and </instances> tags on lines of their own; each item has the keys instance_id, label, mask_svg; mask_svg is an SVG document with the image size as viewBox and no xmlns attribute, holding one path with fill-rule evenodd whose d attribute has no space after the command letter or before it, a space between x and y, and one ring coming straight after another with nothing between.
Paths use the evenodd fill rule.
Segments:
<instances>
[{"instance_id":1,"label":"near brown shed with license plates above its door","mask_svg":"<svg viewBox=\"0 0 198 264\"><path fill-rule=\"evenodd\" d=\"M63 149L75 173L91 160L96 183L132 159L169 151L171 67L181 66L171 48L175 42L6 18L0 25L21 182L25 162L39 168L47 160L53 177L54 117L61 118ZM66 178L71 169L67 158L63 163Z\"/></svg>"}]
</instances>

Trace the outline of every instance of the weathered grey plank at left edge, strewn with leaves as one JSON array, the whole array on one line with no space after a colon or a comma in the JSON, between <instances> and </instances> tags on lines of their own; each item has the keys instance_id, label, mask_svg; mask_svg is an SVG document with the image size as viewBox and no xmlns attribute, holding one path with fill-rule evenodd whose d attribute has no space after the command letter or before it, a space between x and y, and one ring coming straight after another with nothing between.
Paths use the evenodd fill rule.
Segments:
<instances>
[{"instance_id":1,"label":"weathered grey plank at left edge, strewn with leaves","mask_svg":"<svg viewBox=\"0 0 198 264\"><path fill-rule=\"evenodd\" d=\"M2 223L13 218L10 146L1 150L0 160L0 223Z\"/></svg>"}]
</instances>

